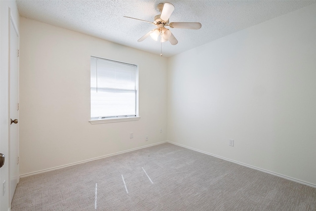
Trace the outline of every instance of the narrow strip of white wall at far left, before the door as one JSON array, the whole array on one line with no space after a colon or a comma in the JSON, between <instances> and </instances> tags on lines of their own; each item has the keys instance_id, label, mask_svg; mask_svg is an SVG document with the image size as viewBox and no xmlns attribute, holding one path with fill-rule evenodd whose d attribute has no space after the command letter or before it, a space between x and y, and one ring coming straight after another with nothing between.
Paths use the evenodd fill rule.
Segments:
<instances>
[{"instance_id":1,"label":"narrow strip of white wall at far left, before the door","mask_svg":"<svg viewBox=\"0 0 316 211\"><path fill-rule=\"evenodd\" d=\"M9 12L10 11L10 12ZM12 17L19 29L19 13L15 0L0 0L0 152L5 155L4 166L0 169L0 210L6 211L9 204L9 24ZM6 191L3 193L3 181L6 181Z\"/></svg>"}]
</instances>

